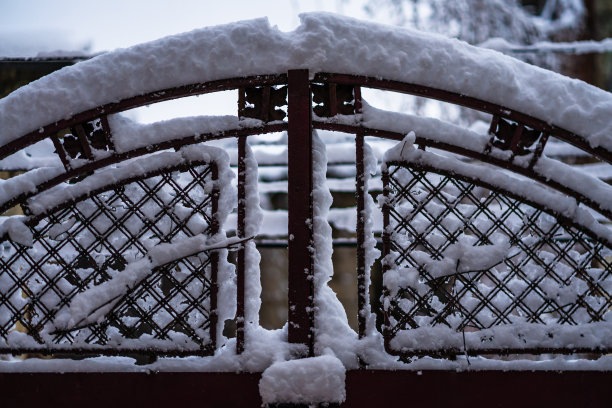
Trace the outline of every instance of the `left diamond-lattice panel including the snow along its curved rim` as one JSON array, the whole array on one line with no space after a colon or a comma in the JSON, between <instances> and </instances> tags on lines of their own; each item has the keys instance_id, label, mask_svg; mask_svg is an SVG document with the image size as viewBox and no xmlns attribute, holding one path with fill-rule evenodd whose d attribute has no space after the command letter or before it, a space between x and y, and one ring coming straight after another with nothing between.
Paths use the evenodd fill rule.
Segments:
<instances>
[{"instance_id":1,"label":"left diamond-lattice panel including the snow along its curved rim","mask_svg":"<svg viewBox=\"0 0 612 408\"><path fill-rule=\"evenodd\" d=\"M59 185L30 200L32 215L5 218L0 349L212 354L235 312L221 229L233 177L222 150L187 146Z\"/></svg>"}]
</instances>

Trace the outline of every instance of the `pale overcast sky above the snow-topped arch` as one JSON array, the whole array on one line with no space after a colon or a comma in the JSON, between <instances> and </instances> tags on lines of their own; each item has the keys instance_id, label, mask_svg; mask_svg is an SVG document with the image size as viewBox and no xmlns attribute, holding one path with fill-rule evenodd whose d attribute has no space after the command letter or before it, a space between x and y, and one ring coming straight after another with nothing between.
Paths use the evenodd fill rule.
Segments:
<instances>
[{"instance_id":1,"label":"pale overcast sky above the snow-topped arch","mask_svg":"<svg viewBox=\"0 0 612 408\"><path fill-rule=\"evenodd\" d=\"M299 12L325 10L365 17L361 0L0 0L0 53L93 52L155 40L195 28L266 16L281 30ZM8 51L7 51L8 50Z\"/></svg>"}]
</instances>

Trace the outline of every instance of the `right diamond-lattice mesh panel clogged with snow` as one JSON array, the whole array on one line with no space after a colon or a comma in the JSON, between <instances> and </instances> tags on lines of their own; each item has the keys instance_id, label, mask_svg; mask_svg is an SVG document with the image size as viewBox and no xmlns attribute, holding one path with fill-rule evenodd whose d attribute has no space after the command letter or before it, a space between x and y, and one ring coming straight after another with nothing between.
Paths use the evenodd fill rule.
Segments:
<instances>
[{"instance_id":1,"label":"right diamond-lattice mesh panel clogged with snow","mask_svg":"<svg viewBox=\"0 0 612 408\"><path fill-rule=\"evenodd\" d=\"M606 245L502 191L408 166L383 176L389 352L609 348Z\"/></svg>"}]
</instances>

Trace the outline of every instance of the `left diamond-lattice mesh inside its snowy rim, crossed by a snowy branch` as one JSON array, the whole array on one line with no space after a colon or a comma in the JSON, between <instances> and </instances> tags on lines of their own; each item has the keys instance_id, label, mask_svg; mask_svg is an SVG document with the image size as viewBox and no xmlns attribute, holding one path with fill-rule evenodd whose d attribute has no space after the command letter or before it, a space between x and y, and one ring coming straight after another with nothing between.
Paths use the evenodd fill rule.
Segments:
<instances>
[{"instance_id":1,"label":"left diamond-lattice mesh inside its snowy rim, crossed by a snowy branch","mask_svg":"<svg viewBox=\"0 0 612 408\"><path fill-rule=\"evenodd\" d=\"M214 162L132 178L33 218L31 247L2 242L0 347L212 353L215 251L170 256L111 294L94 289L161 244L219 232L216 178ZM88 302L97 306L75 320Z\"/></svg>"}]
</instances>

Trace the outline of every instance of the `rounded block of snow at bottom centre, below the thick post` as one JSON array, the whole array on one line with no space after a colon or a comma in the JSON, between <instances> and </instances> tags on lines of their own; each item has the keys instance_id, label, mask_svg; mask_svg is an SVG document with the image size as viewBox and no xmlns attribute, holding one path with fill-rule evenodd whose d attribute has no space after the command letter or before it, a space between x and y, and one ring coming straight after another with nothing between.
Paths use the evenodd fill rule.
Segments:
<instances>
[{"instance_id":1,"label":"rounded block of snow at bottom centre, below the thick post","mask_svg":"<svg viewBox=\"0 0 612 408\"><path fill-rule=\"evenodd\" d=\"M264 404L344 402L346 370L332 355L277 362L263 372Z\"/></svg>"}]
</instances>

